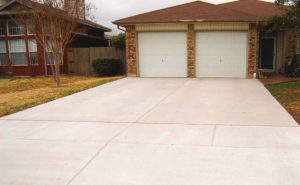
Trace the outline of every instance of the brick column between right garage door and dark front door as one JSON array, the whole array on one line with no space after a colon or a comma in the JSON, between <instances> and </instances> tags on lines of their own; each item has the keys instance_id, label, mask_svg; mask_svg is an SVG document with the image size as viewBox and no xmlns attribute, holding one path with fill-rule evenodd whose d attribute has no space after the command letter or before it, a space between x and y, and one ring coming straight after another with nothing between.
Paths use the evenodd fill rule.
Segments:
<instances>
[{"instance_id":1,"label":"brick column between right garage door and dark front door","mask_svg":"<svg viewBox=\"0 0 300 185\"><path fill-rule=\"evenodd\" d=\"M257 72L259 32L255 24L249 25L248 31L248 78Z\"/></svg>"}]
</instances>

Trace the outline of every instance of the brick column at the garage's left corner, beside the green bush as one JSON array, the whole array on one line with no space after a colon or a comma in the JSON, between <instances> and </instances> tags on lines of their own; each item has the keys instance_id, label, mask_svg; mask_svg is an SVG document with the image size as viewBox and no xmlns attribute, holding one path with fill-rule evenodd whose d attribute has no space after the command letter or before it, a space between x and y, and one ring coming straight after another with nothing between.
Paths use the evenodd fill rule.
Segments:
<instances>
[{"instance_id":1,"label":"brick column at the garage's left corner, beside the green bush","mask_svg":"<svg viewBox=\"0 0 300 185\"><path fill-rule=\"evenodd\" d=\"M126 65L127 75L137 77L137 33L135 26L126 26Z\"/></svg>"}]
</instances>

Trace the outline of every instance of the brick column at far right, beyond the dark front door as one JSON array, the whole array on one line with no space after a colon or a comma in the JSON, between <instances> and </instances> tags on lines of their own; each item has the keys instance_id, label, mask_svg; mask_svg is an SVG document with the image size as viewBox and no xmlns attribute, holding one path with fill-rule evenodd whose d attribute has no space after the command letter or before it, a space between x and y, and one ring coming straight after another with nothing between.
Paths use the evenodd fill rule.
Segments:
<instances>
[{"instance_id":1,"label":"brick column at far right, beyond the dark front door","mask_svg":"<svg viewBox=\"0 0 300 185\"><path fill-rule=\"evenodd\" d=\"M285 65L293 59L297 50L297 38L290 32L285 32Z\"/></svg>"}]
</instances>

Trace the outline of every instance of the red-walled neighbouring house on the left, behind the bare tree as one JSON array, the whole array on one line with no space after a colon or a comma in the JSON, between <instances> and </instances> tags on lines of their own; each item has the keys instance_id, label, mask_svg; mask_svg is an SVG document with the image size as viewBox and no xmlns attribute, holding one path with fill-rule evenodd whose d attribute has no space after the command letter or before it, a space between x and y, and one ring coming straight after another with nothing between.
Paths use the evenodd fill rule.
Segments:
<instances>
[{"instance_id":1,"label":"red-walled neighbouring house on the left, behind the bare tree","mask_svg":"<svg viewBox=\"0 0 300 185\"><path fill-rule=\"evenodd\" d=\"M32 1L26 0L0 0L0 75L48 75L52 73L53 61L46 60L43 47L36 42L36 35L29 27L33 21L26 25L17 23L11 17L20 10L30 10ZM72 6L73 0L65 0L66 6ZM85 1L81 1L81 11L78 11L78 25L73 32L74 39L69 47L108 47L105 32L111 29L96 24L85 18ZM64 53L61 64L61 73L68 73L67 54ZM33 60L34 59L34 60ZM32 64L31 61L36 61Z\"/></svg>"}]
</instances>

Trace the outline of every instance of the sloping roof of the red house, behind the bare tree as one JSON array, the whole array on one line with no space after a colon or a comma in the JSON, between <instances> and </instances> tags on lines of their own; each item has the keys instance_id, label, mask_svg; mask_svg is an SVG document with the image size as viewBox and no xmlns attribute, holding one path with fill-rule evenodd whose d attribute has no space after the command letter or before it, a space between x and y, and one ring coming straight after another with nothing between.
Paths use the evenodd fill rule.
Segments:
<instances>
[{"instance_id":1,"label":"sloping roof of the red house, behind the bare tree","mask_svg":"<svg viewBox=\"0 0 300 185\"><path fill-rule=\"evenodd\" d=\"M7 2L5 4L2 4L0 6L0 15L9 15L9 14L15 14L17 11L5 11L5 9L7 7L9 7L10 5L14 4L14 3L18 3L18 4L21 4L27 8L32 8L33 4L32 3L36 3L36 2L33 2L31 0L7 0ZM106 32L110 32L111 29L105 27L105 26L102 26L98 23L95 23L95 22L92 22L90 20L87 20L87 19L78 19L78 23L79 24L82 24L82 25L85 25L85 26L88 26L88 27L91 27L91 28L95 28L95 29L102 29Z\"/></svg>"}]
</instances>

